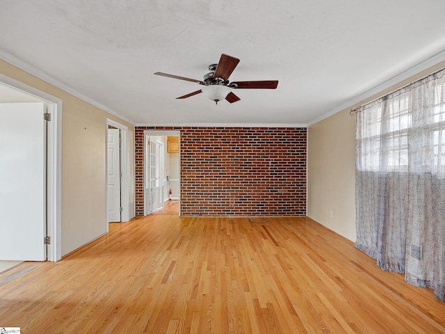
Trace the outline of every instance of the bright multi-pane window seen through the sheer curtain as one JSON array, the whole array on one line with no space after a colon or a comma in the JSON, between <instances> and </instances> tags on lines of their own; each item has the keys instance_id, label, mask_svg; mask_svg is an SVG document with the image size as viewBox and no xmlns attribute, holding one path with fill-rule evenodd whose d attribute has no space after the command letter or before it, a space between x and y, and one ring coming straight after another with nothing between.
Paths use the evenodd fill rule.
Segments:
<instances>
[{"instance_id":1,"label":"bright multi-pane window seen through the sheer curtain","mask_svg":"<svg viewBox=\"0 0 445 334\"><path fill-rule=\"evenodd\" d=\"M366 113L372 116L364 120L361 138L363 151L357 159L357 170L378 171L385 168L407 172L415 168L419 172L445 173L445 84L435 85L432 92L432 108L415 109L410 98L413 92L406 90L387 95L366 106ZM423 96L422 103L428 97ZM382 121L384 106L386 115ZM408 141L412 129L420 136L415 141ZM423 150L428 145L431 152L426 154ZM417 162L417 166L410 166L410 159L413 158L408 154L409 149L411 153L419 151L419 159L423 159L420 164Z\"/></svg>"}]
</instances>

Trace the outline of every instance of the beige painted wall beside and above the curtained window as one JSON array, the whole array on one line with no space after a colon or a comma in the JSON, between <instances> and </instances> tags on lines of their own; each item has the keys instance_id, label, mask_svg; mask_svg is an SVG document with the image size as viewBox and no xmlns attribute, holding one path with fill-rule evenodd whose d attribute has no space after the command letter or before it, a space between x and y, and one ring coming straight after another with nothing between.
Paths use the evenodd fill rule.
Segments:
<instances>
[{"instance_id":1,"label":"beige painted wall beside and above the curtained window","mask_svg":"<svg viewBox=\"0 0 445 334\"><path fill-rule=\"evenodd\" d=\"M369 102L445 67L439 63L381 93ZM350 106L308 128L307 216L355 241L355 116ZM332 212L332 216L331 216Z\"/></svg>"}]
</instances>

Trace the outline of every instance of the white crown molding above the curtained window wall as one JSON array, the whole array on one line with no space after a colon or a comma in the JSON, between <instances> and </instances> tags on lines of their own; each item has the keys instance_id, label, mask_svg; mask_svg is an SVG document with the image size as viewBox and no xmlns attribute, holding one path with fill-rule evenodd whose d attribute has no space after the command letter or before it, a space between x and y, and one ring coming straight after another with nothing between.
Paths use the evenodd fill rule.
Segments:
<instances>
[{"instance_id":1,"label":"white crown molding above the curtained window wall","mask_svg":"<svg viewBox=\"0 0 445 334\"><path fill-rule=\"evenodd\" d=\"M339 113L340 111L344 109L348 109L351 106L354 106L355 104L359 104L360 102L369 99L369 97L372 97L373 95L376 95L378 93L381 93L384 90L387 90L388 88L400 84L402 81L409 79L410 77L419 74L420 72L424 70L428 70L428 68L437 65L438 63L445 61L445 50L439 52L438 54L435 54L434 56L431 56L430 58L427 58L425 61L422 61L421 63L414 65L413 67L410 67L409 69L401 72L400 74L396 75L395 77L392 77L391 79L383 82L382 84L375 86L374 88L371 88L370 90L367 90L366 92L357 95L356 97L353 97L352 99L348 100L347 102L341 104L340 106L337 106L337 108L332 109L331 111L328 111L327 113L323 114L322 116L311 120L307 123L307 126L311 126L315 124L316 122L320 122L321 120L324 120L325 118L328 118L335 113Z\"/></svg>"}]
</instances>

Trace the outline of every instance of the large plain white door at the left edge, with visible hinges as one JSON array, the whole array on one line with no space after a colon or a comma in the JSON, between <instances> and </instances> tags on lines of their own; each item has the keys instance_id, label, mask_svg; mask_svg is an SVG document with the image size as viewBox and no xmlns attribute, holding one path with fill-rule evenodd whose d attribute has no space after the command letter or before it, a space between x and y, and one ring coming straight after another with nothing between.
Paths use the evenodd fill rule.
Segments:
<instances>
[{"instance_id":1,"label":"large plain white door at the left edge, with visible hinges","mask_svg":"<svg viewBox=\"0 0 445 334\"><path fill-rule=\"evenodd\" d=\"M0 260L47 257L44 122L43 103L0 104Z\"/></svg>"}]
</instances>

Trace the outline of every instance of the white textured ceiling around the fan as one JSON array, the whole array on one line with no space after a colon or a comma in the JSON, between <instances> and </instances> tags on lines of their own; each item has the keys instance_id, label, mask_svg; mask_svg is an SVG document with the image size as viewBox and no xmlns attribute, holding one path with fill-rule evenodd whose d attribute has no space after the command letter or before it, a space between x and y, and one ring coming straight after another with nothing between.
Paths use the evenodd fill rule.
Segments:
<instances>
[{"instance_id":1,"label":"white textured ceiling around the fan","mask_svg":"<svg viewBox=\"0 0 445 334\"><path fill-rule=\"evenodd\" d=\"M6 0L0 56L138 125L308 125L428 58L445 60L443 0ZM240 58L216 106L201 86Z\"/></svg>"}]
</instances>

